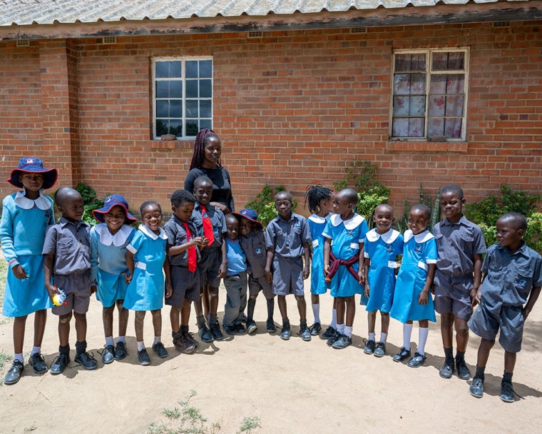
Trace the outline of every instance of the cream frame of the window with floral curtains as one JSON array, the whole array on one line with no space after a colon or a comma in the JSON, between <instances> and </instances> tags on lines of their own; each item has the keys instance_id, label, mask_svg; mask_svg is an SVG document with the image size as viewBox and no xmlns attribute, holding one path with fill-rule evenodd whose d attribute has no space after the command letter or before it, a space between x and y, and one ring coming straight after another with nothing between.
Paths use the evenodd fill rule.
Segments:
<instances>
[{"instance_id":1,"label":"cream frame of the window with floral curtains","mask_svg":"<svg viewBox=\"0 0 542 434\"><path fill-rule=\"evenodd\" d=\"M465 53L465 69L450 70L450 71L433 71L433 53L463 51ZM425 96L425 123L424 136L419 137L394 137L393 136L393 114L394 114L394 75L395 75L395 55L396 54L426 54L426 96ZM392 141L427 141L427 131L429 130L429 90L431 85L431 74L465 74L465 97L463 107L463 119L461 122L461 137L446 138L447 142L463 142L466 141L466 116L467 116L467 101L469 101L469 66L470 66L470 48L469 47L446 47L441 49L401 49L392 51L392 74L391 74L391 98L389 101L389 140ZM416 71L423 74L423 71ZM446 118L446 116L442 116ZM459 116L454 116L459 117Z\"/></svg>"}]
</instances>

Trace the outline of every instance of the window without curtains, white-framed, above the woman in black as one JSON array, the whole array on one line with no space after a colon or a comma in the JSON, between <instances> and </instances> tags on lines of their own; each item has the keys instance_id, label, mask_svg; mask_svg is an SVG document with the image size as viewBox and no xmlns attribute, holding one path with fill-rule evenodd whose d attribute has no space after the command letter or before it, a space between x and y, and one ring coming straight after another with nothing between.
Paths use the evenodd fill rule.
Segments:
<instances>
[{"instance_id":1,"label":"window without curtains, white-framed, above the woman in black","mask_svg":"<svg viewBox=\"0 0 542 434\"><path fill-rule=\"evenodd\" d=\"M153 59L155 138L194 137L213 127L213 59Z\"/></svg>"}]
</instances>

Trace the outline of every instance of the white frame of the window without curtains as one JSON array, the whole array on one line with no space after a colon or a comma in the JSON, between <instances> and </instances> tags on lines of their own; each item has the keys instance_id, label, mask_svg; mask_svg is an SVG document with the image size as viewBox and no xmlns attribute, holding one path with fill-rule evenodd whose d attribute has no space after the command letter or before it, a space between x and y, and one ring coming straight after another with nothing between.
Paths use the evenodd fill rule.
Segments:
<instances>
[{"instance_id":1,"label":"white frame of the window without curtains","mask_svg":"<svg viewBox=\"0 0 542 434\"><path fill-rule=\"evenodd\" d=\"M165 57L153 57L151 69L152 69L152 87L153 87L153 138L155 140L159 140L160 136L156 135L156 81L171 81L172 79L157 79L156 78L156 62L158 61L182 61L183 62L183 76L180 79L176 79L179 81L183 81L183 97L180 98L183 101L183 113L182 113L182 123L183 123L183 136L178 136L178 139L184 139L184 138L195 138L195 136L187 136L186 135L186 61L201 61L201 60L210 60L213 61L213 56L183 56L183 57L175 57L175 56L165 56ZM213 118L213 109L214 109L214 77L215 77L215 71L214 71L214 61L213 61L213 69L211 71L211 128L213 127L214 118ZM204 79L208 79L208 77L203 77ZM198 77L200 79L200 77ZM173 79L175 80L175 79ZM168 98L168 99L175 99L175 98ZM193 98L190 98L191 100ZM196 100L200 99L208 99L208 98L197 98Z\"/></svg>"}]
</instances>

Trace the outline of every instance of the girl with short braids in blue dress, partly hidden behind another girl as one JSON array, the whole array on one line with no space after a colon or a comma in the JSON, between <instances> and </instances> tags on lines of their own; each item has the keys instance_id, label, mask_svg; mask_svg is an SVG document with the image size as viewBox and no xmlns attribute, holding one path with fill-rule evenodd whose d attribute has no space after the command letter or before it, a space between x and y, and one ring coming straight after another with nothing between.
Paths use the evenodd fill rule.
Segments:
<instances>
[{"instance_id":1,"label":"girl with short braids in blue dress, partly hidden behind another girl","mask_svg":"<svg viewBox=\"0 0 542 434\"><path fill-rule=\"evenodd\" d=\"M310 276L310 299L312 303L312 313L315 315L315 323L313 323L309 330L310 334L318 335L322 330L320 324L320 294L327 292L324 275L324 242L325 237L322 236L324 228L329 221L329 217L332 214L329 213L329 209L332 208L331 196L333 191L329 188L322 187L322 185L308 186L305 193L305 201L309 202L309 211L312 216L307 218L310 228L310 238L312 239L312 263L311 263L311 276ZM336 301L333 301L333 317L332 323L329 328L324 332L329 335L334 335L337 330L337 309L335 306ZM331 335L327 336L330 338ZM322 338L324 338L322 336Z\"/></svg>"}]
</instances>

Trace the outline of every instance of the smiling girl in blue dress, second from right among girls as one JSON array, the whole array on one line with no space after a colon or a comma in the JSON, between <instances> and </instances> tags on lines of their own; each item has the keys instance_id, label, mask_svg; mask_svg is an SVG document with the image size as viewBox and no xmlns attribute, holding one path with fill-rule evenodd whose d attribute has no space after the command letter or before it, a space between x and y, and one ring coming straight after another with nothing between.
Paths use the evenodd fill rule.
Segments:
<instances>
[{"instance_id":1,"label":"smiling girl in blue dress, second from right among girls","mask_svg":"<svg viewBox=\"0 0 542 434\"><path fill-rule=\"evenodd\" d=\"M369 338L364 353L376 357L386 354L386 339L389 328L389 311L392 309L395 291L395 268L397 255L403 253L403 236L392 229L395 221L394 209L382 203L374 209L372 217L376 228L367 232L364 244L365 256L365 299L367 305L367 327ZM382 331L380 340L375 342L374 328L377 322L377 311L380 311Z\"/></svg>"}]
</instances>

